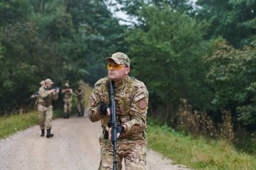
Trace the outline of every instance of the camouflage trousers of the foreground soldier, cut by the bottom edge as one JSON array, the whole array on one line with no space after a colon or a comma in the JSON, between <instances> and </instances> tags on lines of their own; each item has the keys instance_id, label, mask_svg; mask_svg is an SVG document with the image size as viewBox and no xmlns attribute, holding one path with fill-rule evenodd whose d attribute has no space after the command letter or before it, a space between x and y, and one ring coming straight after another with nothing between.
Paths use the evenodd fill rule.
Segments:
<instances>
[{"instance_id":1,"label":"camouflage trousers of the foreground soldier, cut by the bottom edge","mask_svg":"<svg viewBox=\"0 0 256 170\"><path fill-rule=\"evenodd\" d=\"M126 170L146 169L146 141L119 139L117 142L117 169L122 169L125 159ZM98 170L113 169L113 144L100 136L100 165Z\"/></svg>"}]
</instances>

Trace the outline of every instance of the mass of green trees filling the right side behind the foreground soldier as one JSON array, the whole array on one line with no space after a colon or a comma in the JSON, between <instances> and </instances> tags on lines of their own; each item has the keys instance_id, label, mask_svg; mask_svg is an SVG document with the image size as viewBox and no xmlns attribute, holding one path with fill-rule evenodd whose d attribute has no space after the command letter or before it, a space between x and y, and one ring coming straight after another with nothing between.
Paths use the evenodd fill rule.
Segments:
<instances>
[{"instance_id":1,"label":"mass of green trees filling the right side behind the foreground soldier","mask_svg":"<svg viewBox=\"0 0 256 170\"><path fill-rule=\"evenodd\" d=\"M186 99L216 124L227 110L234 125L255 127L255 1L119 3L137 19L125 40L152 116L175 126Z\"/></svg>"}]
</instances>

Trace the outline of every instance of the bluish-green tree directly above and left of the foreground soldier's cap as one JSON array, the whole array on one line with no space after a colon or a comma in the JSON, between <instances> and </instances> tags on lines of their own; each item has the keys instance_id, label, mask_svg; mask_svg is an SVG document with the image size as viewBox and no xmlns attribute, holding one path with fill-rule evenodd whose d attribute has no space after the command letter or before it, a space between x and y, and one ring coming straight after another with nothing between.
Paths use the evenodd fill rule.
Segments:
<instances>
[{"instance_id":1,"label":"bluish-green tree directly above and left of the foreground soldier's cap","mask_svg":"<svg viewBox=\"0 0 256 170\"><path fill-rule=\"evenodd\" d=\"M113 18L104 1L68 1L66 9L78 31L78 42L84 44L77 54L80 67L86 68L90 74L84 80L93 85L107 74L104 58L127 48L123 43L126 27L120 26Z\"/></svg>"}]
</instances>

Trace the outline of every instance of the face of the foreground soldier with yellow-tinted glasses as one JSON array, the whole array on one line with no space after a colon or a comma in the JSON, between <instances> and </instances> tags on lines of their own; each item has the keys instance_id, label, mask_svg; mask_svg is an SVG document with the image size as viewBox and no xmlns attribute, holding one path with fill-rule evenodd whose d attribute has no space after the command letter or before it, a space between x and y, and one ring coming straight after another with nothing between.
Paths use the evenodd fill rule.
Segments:
<instances>
[{"instance_id":1,"label":"face of the foreground soldier with yellow-tinted glasses","mask_svg":"<svg viewBox=\"0 0 256 170\"><path fill-rule=\"evenodd\" d=\"M110 61L109 65L117 65L117 64L113 61ZM125 79L125 77L127 77L129 71L130 71L129 67L121 67L119 69L113 69L113 67L110 67L108 69L108 77L113 81L122 81L123 79Z\"/></svg>"}]
</instances>

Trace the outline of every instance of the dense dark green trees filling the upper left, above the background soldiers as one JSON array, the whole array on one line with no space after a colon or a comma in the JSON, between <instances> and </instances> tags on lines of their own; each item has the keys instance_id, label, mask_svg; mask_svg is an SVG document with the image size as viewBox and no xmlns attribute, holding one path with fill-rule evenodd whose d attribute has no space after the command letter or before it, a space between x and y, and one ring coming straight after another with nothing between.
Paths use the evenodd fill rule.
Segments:
<instances>
[{"instance_id":1,"label":"dense dark green trees filling the upper left, above the background soldiers","mask_svg":"<svg viewBox=\"0 0 256 170\"><path fill-rule=\"evenodd\" d=\"M19 109L42 79L94 84L106 75L104 56L123 45L125 26L103 1L0 1L0 13L1 114Z\"/></svg>"}]
</instances>

